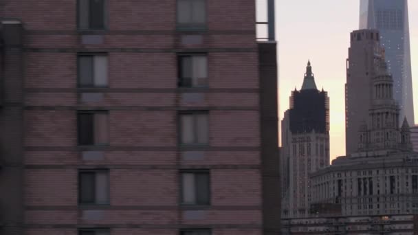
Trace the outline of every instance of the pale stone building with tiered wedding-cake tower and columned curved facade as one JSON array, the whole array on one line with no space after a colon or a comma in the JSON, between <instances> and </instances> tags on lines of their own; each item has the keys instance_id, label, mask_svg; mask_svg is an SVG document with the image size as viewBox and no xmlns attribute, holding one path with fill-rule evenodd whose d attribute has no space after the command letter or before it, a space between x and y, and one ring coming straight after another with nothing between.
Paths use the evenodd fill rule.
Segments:
<instances>
[{"instance_id":1,"label":"pale stone building with tiered wedding-cake tower and columned curved facade","mask_svg":"<svg viewBox=\"0 0 418 235\"><path fill-rule=\"evenodd\" d=\"M342 216L418 214L418 153L412 151L406 118L398 127L399 107L384 58L375 71L358 151L311 174L312 201L340 204Z\"/></svg>"}]
</instances>

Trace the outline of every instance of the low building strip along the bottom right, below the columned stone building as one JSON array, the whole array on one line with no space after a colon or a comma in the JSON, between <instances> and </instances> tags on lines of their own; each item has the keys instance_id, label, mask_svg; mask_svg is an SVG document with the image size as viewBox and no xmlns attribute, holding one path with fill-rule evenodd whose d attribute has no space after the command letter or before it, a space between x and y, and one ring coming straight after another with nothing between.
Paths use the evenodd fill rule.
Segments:
<instances>
[{"instance_id":1,"label":"low building strip along the bottom right, below the columned stone building","mask_svg":"<svg viewBox=\"0 0 418 235\"><path fill-rule=\"evenodd\" d=\"M329 216L283 219L282 235L309 234L418 234L418 216Z\"/></svg>"}]
</instances>

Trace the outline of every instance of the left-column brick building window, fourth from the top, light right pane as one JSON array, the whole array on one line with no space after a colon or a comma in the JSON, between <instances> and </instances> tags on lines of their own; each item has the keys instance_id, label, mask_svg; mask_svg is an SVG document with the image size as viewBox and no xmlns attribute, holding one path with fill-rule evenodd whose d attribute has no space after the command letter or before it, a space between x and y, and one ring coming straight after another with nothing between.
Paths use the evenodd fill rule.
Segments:
<instances>
[{"instance_id":1,"label":"left-column brick building window, fourth from the top, light right pane","mask_svg":"<svg viewBox=\"0 0 418 235\"><path fill-rule=\"evenodd\" d=\"M109 170L78 172L78 203L109 204Z\"/></svg>"}]
</instances>

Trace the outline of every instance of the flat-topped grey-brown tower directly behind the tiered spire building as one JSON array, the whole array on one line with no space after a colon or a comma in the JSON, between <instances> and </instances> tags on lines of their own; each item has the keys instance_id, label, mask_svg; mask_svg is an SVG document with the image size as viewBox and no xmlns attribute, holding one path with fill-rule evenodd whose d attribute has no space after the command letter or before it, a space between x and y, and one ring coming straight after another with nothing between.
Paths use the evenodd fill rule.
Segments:
<instances>
[{"instance_id":1,"label":"flat-topped grey-brown tower directly behind the tiered spire building","mask_svg":"<svg viewBox=\"0 0 418 235\"><path fill-rule=\"evenodd\" d=\"M358 130L361 124L366 122L371 107L371 82L376 76L376 63L384 57L377 30L351 32L350 41L345 85L347 155L358 148Z\"/></svg>"}]
</instances>

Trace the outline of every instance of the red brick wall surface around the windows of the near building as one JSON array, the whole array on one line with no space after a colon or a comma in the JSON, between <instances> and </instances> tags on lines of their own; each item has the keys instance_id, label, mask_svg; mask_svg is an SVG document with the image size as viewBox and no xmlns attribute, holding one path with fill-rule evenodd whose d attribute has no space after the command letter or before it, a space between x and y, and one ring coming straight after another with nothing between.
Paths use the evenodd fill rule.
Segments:
<instances>
[{"instance_id":1,"label":"red brick wall surface around the windows of the near building","mask_svg":"<svg viewBox=\"0 0 418 235\"><path fill-rule=\"evenodd\" d=\"M97 224L261 226L260 154L257 150L260 146L259 65L253 0L208 0L208 32L203 34L202 45L180 45L181 34L175 33L174 0L109 0L110 32L104 35L102 45L81 44L81 36L76 32L76 0L40 0L36 4L27 0L5 0L2 4L2 16L21 19L28 30L24 69L25 105L28 109L24 113L24 141L30 148L25 151L24 162L30 167L25 170L24 197L27 207L25 223L30 226L26 234L75 235L76 225ZM63 31L55 33L54 30ZM115 30L135 32L122 34ZM141 30L159 30L159 33L138 33ZM76 52L85 49L102 52L109 48L156 50L147 53L109 52L109 89L101 90L104 99L96 103L79 103ZM176 90L175 49L185 48L217 50L208 52L210 89L241 90L204 92L203 100L197 103L181 101L182 95ZM52 50L36 52L42 49ZM64 51L56 53L54 49ZM73 52L65 49L73 49ZM160 49L166 52L160 52ZM228 49L232 50L228 52ZM124 92L123 89L169 90ZM173 150L100 148L104 154L102 160L84 161L76 146L76 109L88 107L113 107L109 111L110 148L175 148L176 109L208 109L210 146L227 150L204 151L203 159L197 161L182 160L181 153ZM158 110L147 110L149 107ZM238 149L228 150L231 147ZM248 151L247 148L252 149ZM65 168L60 168L62 166ZM77 209L77 168L86 166L112 168L109 171L111 206L106 210L90 208L100 211L100 221L83 219L83 210ZM155 169L159 166L172 167ZM181 210L177 210L179 169L176 168L180 166L217 166L217 169L210 170L211 199L212 205L220 209L204 210L206 219L181 219ZM231 166L243 169L225 169ZM123 210L124 206L171 206L175 209ZM248 209L222 210L223 206ZM74 228L35 228L54 224ZM112 230L112 235L168 235L177 234L177 231L118 228ZM261 230L216 229L213 234L261 235Z\"/></svg>"}]
</instances>

